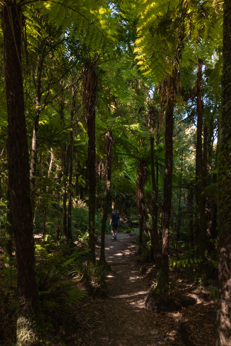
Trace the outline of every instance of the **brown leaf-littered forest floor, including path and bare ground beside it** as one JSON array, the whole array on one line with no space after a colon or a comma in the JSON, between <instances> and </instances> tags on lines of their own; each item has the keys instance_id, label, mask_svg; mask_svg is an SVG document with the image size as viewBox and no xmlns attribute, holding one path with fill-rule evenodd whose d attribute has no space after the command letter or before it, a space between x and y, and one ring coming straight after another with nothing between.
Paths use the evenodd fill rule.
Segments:
<instances>
[{"instance_id":1,"label":"brown leaf-littered forest floor, including path and bare ground beside it","mask_svg":"<svg viewBox=\"0 0 231 346\"><path fill-rule=\"evenodd\" d=\"M107 295L88 295L77 304L43 310L47 337L51 340L47 345L213 346L217 301L209 298L209 291L203 285L195 285L194 273L186 268L170 269L170 277L176 282L175 297L194 298L193 305L179 307L174 312L149 310L145 299L156 280L157 270L151 271L149 276L142 274L144 268L153 267L137 257L135 237L119 233L117 242L111 238L106 235L105 239L106 260L111 266L107 274ZM99 250L100 238L96 246L97 259ZM83 285L79 283L79 288L83 289ZM0 312L5 311L6 297L5 292L0 292L3 302ZM16 315L2 313L2 316L0 345L14 345ZM180 334L179 322L183 322ZM186 336L186 344L183 344L181 338Z\"/></svg>"}]
</instances>

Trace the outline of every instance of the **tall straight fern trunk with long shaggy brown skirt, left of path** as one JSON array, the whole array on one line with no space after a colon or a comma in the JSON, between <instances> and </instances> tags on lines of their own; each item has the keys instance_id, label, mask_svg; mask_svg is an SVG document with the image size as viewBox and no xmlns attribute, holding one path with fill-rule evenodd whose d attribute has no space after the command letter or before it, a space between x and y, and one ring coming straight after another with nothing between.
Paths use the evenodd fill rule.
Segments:
<instances>
[{"instance_id":1,"label":"tall straight fern trunk with long shaggy brown skirt, left of path","mask_svg":"<svg viewBox=\"0 0 231 346\"><path fill-rule=\"evenodd\" d=\"M95 60L90 59L84 67L83 103L88 134L88 209L89 209L89 261L95 262L95 211L96 211L96 145L95 121L98 76Z\"/></svg>"}]
</instances>

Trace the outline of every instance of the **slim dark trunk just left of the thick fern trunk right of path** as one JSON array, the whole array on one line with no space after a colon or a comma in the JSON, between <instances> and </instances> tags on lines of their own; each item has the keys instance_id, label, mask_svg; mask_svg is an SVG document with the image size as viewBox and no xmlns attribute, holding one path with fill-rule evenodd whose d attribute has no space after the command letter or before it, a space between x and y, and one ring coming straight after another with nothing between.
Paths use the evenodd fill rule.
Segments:
<instances>
[{"instance_id":1,"label":"slim dark trunk just left of the thick fern trunk right of path","mask_svg":"<svg viewBox=\"0 0 231 346\"><path fill-rule=\"evenodd\" d=\"M154 133L155 116L150 111L150 131ZM152 212L152 229L151 229L151 246L153 249L153 255L155 258L156 267L161 266L161 253L159 247L158 229L157 229L157 215L158 215L158 204L157 204L157 189L158 189L158 176L156 179L155 165L154 165L154 138L150 137L150 155L151 155L151 176L152 176L152 198L151 198L151 212ZM158 170L158 167L156 167Z\"/></svg>"}]
</instances>

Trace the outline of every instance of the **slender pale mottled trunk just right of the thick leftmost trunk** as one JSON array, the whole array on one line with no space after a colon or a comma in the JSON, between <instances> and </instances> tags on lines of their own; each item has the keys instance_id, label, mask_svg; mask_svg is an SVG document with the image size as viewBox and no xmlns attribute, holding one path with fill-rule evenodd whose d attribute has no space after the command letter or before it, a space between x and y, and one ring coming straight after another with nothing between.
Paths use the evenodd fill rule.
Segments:
<instances>
[{"instance_id":1,"label":"slender pale mottled trunk just right of the thick leftmost trunk","mask_svg":"<svg viewBox=\"0 0 231 346\"><path fill-rule=\"evenodd\" d=\"M36 65L36 97L35 97L35 119L34 119L34 128L32 135L32 148L30 156L30 199L32 203L32 212L34 213L35 208L35 175L36 175L36 163L37 163L37 138L38 138L38 123L39 123L39 107L41 106L41 77L43 69L43 57L39 54L37 56L37 65Z\"/></svg>"}]
</instances>

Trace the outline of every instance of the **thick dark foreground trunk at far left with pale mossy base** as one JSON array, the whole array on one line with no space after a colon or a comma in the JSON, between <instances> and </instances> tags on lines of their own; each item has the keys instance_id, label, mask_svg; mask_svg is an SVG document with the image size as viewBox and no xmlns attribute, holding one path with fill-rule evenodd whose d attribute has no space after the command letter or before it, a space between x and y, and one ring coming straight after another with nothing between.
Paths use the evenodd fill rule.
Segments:
<instances>
[{"instance_id":1,"label":"thick dark foreground trunk at far left with pale mossy base","mask_svg":"<svg viewBox=\"0 0 231 346\"><path fill-rule=\"evenodd\" d=\"M41 312L35 278L29 157L24 114L21 46L23 15L19 6L2 7L5 83L8 111L8 171L18 268L17 346L42 345ZM12 33L14 31L14 33Z\"/></svg>"}]
</instances>

